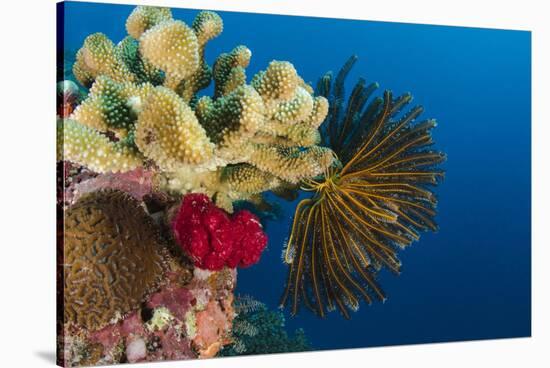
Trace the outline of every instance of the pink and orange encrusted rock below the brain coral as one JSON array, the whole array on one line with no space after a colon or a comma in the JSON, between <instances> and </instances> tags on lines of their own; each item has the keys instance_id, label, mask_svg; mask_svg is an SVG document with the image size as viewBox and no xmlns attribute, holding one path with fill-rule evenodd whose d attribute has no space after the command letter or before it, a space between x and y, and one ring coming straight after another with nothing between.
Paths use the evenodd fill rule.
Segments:
<instances>
[{"instance_id":1,"label":"pink and orange encrusted rock below the brain coral","mask_svg":"<svg viewBox=\"0 0 550 368\"><path fill-rule=\"evenodd\" d=\"M161 288L100 330L66 328L64 364L185 360L215 356L230 343L236 273L197 271L172 262Z\"/></svg>"}]
</instances>

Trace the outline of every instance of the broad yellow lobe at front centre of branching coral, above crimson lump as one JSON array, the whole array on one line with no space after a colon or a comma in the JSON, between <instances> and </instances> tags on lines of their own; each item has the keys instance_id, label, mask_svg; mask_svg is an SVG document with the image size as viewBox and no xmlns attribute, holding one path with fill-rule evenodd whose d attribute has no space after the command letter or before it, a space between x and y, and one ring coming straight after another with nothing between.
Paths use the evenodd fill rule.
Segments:
<instances>
[{"instance_id":1,"label":"broad yellow lobe at front centre of branching coral, above crimson lump","mask_svg":"<svg viewBox=\"0 0 550 368\"><path fill-rule=\"evenodd\" d=\"M156 87L145 101L135 143L163 170L203 164L212 158L214 148L193 110L165 87Z\"/></svg>"}]
</instances>

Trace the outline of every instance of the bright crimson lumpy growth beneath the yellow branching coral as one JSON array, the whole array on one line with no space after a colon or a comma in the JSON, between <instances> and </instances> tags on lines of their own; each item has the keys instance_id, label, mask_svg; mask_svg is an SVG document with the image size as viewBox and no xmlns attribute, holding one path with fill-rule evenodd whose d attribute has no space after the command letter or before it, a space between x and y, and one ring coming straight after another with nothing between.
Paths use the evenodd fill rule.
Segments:
<instances>
[{"instance_id":1,"label":"bright crimson lumpy growth beneath the yellow branching coral","mask_svg":"<svg viewBox=\"0 0 550 368\"><path fill-rule=\"evenodd\" d=\"M208 270L249 267L259 261L267 244L255 215L242 210L230 217L204 194L184 197L172 228L195 266Z\"/></svg>"}]
</instances>

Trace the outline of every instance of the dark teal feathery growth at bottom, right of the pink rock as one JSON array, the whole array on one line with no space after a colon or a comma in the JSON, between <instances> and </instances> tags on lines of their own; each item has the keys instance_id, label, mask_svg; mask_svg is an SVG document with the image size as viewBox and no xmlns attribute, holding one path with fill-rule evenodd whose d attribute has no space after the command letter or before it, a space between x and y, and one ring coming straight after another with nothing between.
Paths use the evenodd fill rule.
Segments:
<instances>
[{"instance_id":1,"label":"dark teal feathery growth at bottom, right of the pink rock","mask_svg":"<svg viewBox=\"0 0 550 368\"><path fill-rule=\"evenodd\" d=\"M280 311L270 311L265 304L249 296L235 300L237 317L233 322L233 343L220 351L220 356L288 353L311 350L304 330L294 336L285 330L285 317Z\"/></svg>"}]
</instances>

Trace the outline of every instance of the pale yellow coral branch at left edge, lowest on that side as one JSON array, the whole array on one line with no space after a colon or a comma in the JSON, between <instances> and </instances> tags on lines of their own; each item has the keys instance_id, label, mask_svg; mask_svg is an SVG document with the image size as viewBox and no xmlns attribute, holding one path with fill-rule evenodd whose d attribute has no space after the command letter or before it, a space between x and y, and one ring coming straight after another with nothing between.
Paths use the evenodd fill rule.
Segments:
<instances>
[{"instance_id":1,"label":"pale yellow coral branch at left edge, lowest on that side","mask_svg":"<svg viewBox=\"0 0 550 368\"><path fill-rule=\"evenodd\" d=\"M74 120L58 119L57 142L62 145L58 159L86 165L99 173L124 172L142 165L140 155L124 142L112 142Z\"/></svg>"}]
</instances>

